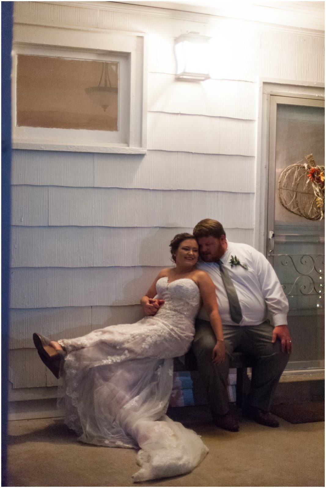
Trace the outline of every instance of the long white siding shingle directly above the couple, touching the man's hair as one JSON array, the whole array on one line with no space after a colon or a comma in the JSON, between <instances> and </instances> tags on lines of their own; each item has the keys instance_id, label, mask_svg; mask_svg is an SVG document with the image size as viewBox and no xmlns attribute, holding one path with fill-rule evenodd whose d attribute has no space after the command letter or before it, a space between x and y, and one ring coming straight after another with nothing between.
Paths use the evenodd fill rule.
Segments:
<instances>
[{"instance_id":1,"label":"long white siding shingle directly above the couple, touching the man's hair","mask_svg":"<svg viewBox=\"0 0 326 488\"><path fill-rule=\"evenodd\" d=\"M191 227L208 215L253 226L253 194L141 189L49 188L49 225Z\"/></svg>"}]
</instances>

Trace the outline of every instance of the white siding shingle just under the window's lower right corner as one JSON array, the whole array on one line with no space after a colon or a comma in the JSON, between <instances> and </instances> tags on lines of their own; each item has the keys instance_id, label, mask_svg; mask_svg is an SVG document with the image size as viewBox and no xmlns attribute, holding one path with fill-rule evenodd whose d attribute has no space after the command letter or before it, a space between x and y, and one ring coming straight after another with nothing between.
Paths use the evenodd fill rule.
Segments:
<instances>
[{"instance_id":1,"label":"white siding shingle just under the window's lower right corner","mask_svg":"<svg viewBox=\"0 0 326 488\"><path fill-rule=\"evenodd\" d=\"M254 166L253 157L224 154L148 151L134 161L95 154L94 186L253 193Z\"/></svg>"}]
</instances>

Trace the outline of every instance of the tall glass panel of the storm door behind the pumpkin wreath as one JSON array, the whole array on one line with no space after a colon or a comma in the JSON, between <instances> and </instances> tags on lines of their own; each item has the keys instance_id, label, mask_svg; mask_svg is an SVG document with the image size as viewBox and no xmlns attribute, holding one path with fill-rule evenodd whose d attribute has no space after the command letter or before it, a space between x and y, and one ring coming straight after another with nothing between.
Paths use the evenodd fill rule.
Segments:
<instances>
[{"instance_id":1,"label":"tall glass panel of the storm door behind the pumpkin wreath","mask_svg":"<svg viewBox=\"0 0 326 488\"><path fill-rule=\"evenodd\" d=\"M274 214L274 249L269 256L289 301L288 324L294 347L288 369L323 367L325 221L309 220L290 209L303 208L301 213L312 216L309 205L316 197L304 168L305 156L312 154L313 166L325 165L324 123L323 107L277 104L275 188L270 188L274 208L269 211ZM290 171L292 164L297 166ZM278 183L284 187L285 168L287 190L280 199Z\"/></svg>"}]
</instances>

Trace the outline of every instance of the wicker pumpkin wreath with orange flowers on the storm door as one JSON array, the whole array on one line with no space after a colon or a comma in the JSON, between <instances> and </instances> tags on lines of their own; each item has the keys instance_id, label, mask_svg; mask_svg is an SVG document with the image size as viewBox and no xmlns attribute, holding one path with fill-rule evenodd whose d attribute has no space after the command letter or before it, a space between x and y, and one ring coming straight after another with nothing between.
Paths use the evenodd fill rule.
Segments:
<instances>
[{"instance_id":1,"label":"wicker pumpkin wreath with orange flowers on the storm door","mask_svg":"<svg viewBox=\"0 0 326 488\"><path fill-rule=\"evenodd\" d=\"M325 212L325 166L318 166L312 154L305 160L283 169L278 183L280 202L289 212L321 220Z\"/></svg>"}]
</instances>

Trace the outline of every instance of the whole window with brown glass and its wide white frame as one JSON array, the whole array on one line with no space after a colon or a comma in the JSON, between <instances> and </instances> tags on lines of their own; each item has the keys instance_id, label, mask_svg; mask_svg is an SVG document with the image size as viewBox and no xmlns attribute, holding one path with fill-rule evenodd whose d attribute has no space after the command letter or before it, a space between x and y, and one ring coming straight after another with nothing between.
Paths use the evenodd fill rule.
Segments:
<instances>
[{"instance_id":1,"label":"whole window with brown glass and its wide white frame","mask_svg":"<svg viewBox=\"0 0 326 488\"><path fill-rule=\"evenodd\" d=\"M146 152L143 35L19 25L13 52L14 148Z\"/></svg>"}]
</instances>

